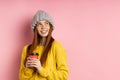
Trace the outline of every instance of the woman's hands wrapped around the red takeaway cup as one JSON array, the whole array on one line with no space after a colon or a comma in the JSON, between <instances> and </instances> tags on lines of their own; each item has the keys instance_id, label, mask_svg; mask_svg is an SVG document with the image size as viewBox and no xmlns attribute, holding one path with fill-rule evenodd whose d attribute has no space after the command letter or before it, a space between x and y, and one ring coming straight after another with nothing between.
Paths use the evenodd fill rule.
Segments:
<instances>
[{"instance_id":1,"label":"woman's hands wrapped around the red takeaway cup","mask_svg":"<svg viewBox=\"0 0 120 80\"><path fill-rule=\"evenodd\" d=\"M26 62L26 67L27 68L33 68L35 67L38 71L41 70L42 66L41 66L41 62L39 59L36 58L27 58L27 62Z\"/></svg>"}]
</instances>

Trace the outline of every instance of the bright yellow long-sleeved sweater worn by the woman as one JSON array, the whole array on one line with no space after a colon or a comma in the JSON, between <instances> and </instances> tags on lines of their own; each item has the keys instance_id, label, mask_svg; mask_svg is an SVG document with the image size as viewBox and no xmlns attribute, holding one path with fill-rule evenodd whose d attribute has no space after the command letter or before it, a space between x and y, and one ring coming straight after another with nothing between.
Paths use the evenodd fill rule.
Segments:
<instances>
[{"instance_id":1,"label":"bright yellow long-sleeved sweater worn by the woman","mask_svg":"<svg viewBox=\"0 0 120 80\"><path fill-rule=\"evenodd\" d=\"M34 72L33 69L26 68L24 60L28 45L24 46L22 51L21 66L19 71L20 80L67 80L68 65L66 51L60 43L54 41L48 53L46 65L42 66L40 72ZM37 46L34 52L42 55L43 46Z\"/></svg>"}]
</instances>

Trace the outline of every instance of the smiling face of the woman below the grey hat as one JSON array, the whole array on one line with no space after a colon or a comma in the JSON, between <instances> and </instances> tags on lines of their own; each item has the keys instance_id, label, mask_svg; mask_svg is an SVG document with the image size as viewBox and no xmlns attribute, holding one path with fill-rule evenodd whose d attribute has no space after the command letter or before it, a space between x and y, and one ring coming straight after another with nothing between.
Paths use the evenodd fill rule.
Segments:
<instances>
[{"instance_id":1,"label":"smiling face of the woman below the grey hat","mask_svg":"<svg viewBox=\"0 0 120 80\"><path fill-rule=\"evenodd\" d=\"M41 37L47 37L50 30L50 24L48 21L42 20L37 23L36 28Z\"/></svg>"}]
</instances>

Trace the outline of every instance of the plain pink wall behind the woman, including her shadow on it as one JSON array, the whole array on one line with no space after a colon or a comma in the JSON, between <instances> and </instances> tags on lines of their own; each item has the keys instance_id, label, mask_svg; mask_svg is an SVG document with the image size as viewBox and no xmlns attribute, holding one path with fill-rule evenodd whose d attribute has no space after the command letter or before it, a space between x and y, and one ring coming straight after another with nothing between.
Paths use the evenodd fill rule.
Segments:
<instances>
[{"instance_id":1,"label":"plain pink wall behind the woman, including her shadow on it","mask_svg":"<svg viewBox=\"0 0 120 80\"><path fill-rule=\"evenodd\" d=\"M0 80L18 80L21 50L32 40L39 9L54 19L69 80L120 80L119 0L0 0Z\"/></svg>"}]
</instances>

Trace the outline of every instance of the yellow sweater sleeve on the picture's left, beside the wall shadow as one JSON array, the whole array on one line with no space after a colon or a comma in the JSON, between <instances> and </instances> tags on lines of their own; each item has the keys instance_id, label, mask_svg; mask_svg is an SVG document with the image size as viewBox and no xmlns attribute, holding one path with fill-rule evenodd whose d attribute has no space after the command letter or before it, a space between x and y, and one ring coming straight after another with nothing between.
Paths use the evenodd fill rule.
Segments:
<instances>
[{"instance_id":1,"label":"yellow sweater sleeve on the picture's left, beside the wall shadow","mask_svg":"<svg viewBox=\"0 0 120 80\"><path fill-rule=\"evenodd\" d=\"M26 68L24 65L24 60L26 57L27 45L22 50L21 64L19 70L19 79L20 80L30 80L32 77L33 69Z\"/></svg>"}]
</instances>

